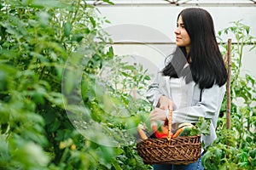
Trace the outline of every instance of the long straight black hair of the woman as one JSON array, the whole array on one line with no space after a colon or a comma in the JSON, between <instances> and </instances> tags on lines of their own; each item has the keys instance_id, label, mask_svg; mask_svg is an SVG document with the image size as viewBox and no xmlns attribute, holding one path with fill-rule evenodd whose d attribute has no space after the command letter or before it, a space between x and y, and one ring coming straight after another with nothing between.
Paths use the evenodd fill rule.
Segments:
<instances>
[{"instance_id":1,"label":"long straight black hair of the woman","mask_svg":"<svg viewBox=\"0 0 256 170\"><path fill-rule=\"evenodd\" d=\"M224 85L227 81L227 71L216 41L212 16L202 8L183 9L177 20L179 16L182 16L184 28L190 37L189 54L184 47L177 47L162 74L180 77L190 73L191 76L186 77L186 82L194 80L201 89L212 88L213 84ZM184 70L187 62L189 70Z\"/></svg>"}]
</instances>

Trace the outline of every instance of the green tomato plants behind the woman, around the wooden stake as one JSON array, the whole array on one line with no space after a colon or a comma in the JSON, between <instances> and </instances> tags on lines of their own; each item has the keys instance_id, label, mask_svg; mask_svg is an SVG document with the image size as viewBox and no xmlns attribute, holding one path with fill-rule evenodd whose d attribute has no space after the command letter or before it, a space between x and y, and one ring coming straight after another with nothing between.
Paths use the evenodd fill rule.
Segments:
<instances>
[{"instance_id":1,"label":"green tomato plants behind the woman, around the wooden stake","mask_svg":"<svg viewBox=\"0 0 256 170\"><path fill-rule=\"evenodd\" d=\"M253 170L256 165L253 154L256 147L255 79L250 75L241 77L240 72L241 59L245 57L244 47L247 44L254 44L255 38L250 35L250 27L244 25L241 20L234 21L232 24L233 26L218 31L219 38L222 34L236 37L234 40L236 43L231 48L231 128L226 129L227 99L225 96L221 117L218 120L218 139L207 150L202 163L206 169ZM221 38L220 41L225 54L227 44Z\"/></svg>"}]
</instances>

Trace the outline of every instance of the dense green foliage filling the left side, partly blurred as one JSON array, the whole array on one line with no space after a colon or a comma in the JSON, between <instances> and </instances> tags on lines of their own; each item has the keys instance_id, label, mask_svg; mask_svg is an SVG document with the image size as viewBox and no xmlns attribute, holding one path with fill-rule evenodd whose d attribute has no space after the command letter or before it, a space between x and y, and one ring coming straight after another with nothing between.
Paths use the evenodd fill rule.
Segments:
<instances>
[{"instance_id":1,"label":"dense green foliage filling the left side, partly blurred","mask_svg":"<svg viewBox=\"0 0 256 170\"><path fill-rule=\"evenodd\" d=\"M150 168L130 132L150 105L99 78L114 63L119 84L148 81L113 54L109 21L82 0L6 0L0 10L0 169Z\"/></svg>"}]
</instances>

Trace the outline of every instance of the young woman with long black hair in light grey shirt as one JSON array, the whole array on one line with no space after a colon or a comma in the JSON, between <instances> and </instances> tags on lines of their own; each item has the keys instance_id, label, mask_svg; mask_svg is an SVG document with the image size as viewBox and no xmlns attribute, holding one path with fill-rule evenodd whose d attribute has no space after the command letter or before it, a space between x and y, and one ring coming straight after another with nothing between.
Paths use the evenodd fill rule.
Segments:
<instances>
[{"instance_id":1,"label":"young woman with long black hair in light grey shirt","mask_svg":"<svg viewBox=\"0 0 256 170\"><path fill-rule=\"evenodd\" d=\"M173 125L211 120L210 134L201 134L206 146L217 138L215 128L225 93L227 71L216 41L212 16L202 8L185 8L177 16L177 48L168 56L148 88L154 105L152 122L166 121L172 110ZM174 126L175 127L175 126ZM154 165L154 169L203 169L201 158L189 165Z\"/></svg>"}]
</instances>

